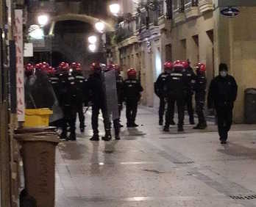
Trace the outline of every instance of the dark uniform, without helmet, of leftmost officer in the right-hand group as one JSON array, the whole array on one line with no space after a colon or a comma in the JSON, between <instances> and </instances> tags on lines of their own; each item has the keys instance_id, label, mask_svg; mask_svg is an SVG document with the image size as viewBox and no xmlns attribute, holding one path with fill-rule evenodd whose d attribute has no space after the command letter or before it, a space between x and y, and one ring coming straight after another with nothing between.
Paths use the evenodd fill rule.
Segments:
<instances>
[{"instance_id":1,"label":"dark uniform, without helmet, of leftmost officer in the right-hand group","mask_svg":"<svg viewBox=\"0 0 256 207\"><path fill-rule=\"evenodd\" d=\"M163 125L163 115L166 110L166 80L169 76L169 73L161 73L157 81L154 83L154 93L160 98L160 106L159 106L159 124Z\"/></svg>"}]
</instances>

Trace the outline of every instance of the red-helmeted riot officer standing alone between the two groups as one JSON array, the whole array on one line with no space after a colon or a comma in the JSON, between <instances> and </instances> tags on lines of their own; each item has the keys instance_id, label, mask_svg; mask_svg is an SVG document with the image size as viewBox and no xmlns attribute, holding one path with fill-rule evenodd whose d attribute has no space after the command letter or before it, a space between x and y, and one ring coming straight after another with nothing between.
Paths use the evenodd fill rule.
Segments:
<instances>
[{"instance_id":1,"label":"red-helmeted riot officer standing alone between the two groups","mask_svg":"<svg viewBox=\"0 0 256 207\"><path fill-rule=\"evenodd\" d=\"M135 119L137 116L138 101L141 99L143 87L136 79L137 72L134 68L127 71L128 79L124 81L124 101L127 104L127 127L137 127Z\"/></svg>"}]
</instances>

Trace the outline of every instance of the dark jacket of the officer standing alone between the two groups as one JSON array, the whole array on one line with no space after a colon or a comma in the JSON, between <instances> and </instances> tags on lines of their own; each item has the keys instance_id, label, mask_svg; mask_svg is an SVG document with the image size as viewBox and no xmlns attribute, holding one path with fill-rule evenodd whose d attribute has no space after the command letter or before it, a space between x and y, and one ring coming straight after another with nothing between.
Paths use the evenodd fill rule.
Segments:
<instances>
[{"instance_id":1,"label":"dark jacket of the officer standing alone between the two groups","mask_svg":"<svg viewBox=\"0 0 256 207\"><path fill-rule=\"evenodd\" d=\"M140 101L143 87L137 79L127 79L124 81L124 100Z\"/></svg>"}]
</instances>

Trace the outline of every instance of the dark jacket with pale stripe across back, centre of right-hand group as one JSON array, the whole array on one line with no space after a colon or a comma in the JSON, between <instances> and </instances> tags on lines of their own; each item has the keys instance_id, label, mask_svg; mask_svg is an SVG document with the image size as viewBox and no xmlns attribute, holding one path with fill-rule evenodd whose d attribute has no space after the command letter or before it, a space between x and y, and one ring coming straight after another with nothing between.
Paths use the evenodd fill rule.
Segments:
<instances>
[{"instance_id":1,"label":"dark jacket with pale stripe across back, centre of right-hand group","mask_svg":"<svg viewBox=\"0 0 256 207\"><path fill-rule=\"evenodd\" d=\"M189 80L185 71L171 71L166 81L168 97L185 98L188 94Z\"/></svg>"}]
</instances>

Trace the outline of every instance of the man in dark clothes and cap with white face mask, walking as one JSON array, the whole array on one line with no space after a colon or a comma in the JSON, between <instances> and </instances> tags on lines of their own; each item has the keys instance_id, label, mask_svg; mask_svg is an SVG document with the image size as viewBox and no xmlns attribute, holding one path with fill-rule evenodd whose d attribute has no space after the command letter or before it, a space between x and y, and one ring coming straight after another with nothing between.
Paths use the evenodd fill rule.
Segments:
<instances>
[{"instance_id":1,"label":"man in dark clothes and cap with white face mask, walking","mask_svg":"<svg viewBox=\"0 0 256 207\"><path fill-rule=\"evenodd\" d=\"M237 98L238 85L228 73L227 65L219 65L219 75L210 83L208 92L208 109L216 109L218 134L221 144L227 143L228 132L232 125L232 109Z\"/></svg>"}]
</instances>

